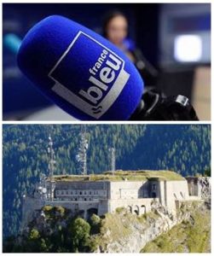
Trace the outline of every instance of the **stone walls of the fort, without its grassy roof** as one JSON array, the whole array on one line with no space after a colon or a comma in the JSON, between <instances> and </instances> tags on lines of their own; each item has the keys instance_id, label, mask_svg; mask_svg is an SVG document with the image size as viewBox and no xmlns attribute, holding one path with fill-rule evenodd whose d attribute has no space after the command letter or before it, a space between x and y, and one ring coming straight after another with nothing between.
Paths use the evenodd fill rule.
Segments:
<instances>
[{"instance_id":1,"label":"stone walls of the fort, without its grassy roof","mask_svg":"<svg viewBox=\"0 0 214 256\"><path fill-rule=\"evenodd\" d=\"M43 200L38 195L26 197L23 205L22 226L32 219L32 212L45 205L61 206L84 218L91 214L104 215L124 207L141 215L151 211L153 200L176 211L176 201L189 199L188 182L182 181L60 181L55 183L53 201Z\"/></svg>"}]
</instances>

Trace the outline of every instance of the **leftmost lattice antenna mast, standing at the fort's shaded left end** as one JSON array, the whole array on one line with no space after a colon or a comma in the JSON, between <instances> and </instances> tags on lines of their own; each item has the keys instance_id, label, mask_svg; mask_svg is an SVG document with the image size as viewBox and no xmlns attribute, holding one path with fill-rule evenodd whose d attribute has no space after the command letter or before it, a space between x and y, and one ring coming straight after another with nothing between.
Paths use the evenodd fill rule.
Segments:
<instances>
[{"instance_id":1,"label":"leftmost lattice antenna mast, standing at the fort's shaded left end","mask_svg":"<svg viewBox=\"0 0 214 256\"><path fill-rule=\"evenodd\" d=\"M53 141L49 135L49 147L48 147L48 154L49 154L49 187L50 187L50 201L53 201L53 190L54 190L54 172L55 172L55 150L53 148Z\"/></svg>"}]
</instances>

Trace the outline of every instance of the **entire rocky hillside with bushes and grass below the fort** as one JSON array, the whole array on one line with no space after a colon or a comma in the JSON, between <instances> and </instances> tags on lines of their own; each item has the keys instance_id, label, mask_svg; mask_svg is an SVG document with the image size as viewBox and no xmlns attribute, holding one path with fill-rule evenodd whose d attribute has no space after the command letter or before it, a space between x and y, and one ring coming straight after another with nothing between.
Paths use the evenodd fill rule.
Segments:
<instances>
[{"instance_id":1,"label":"entire rocky hillside with bushes and grass below the fort","mask_svg":"<svg viewBox=\"0 0 214 256\"><path fill-rule=\"evenodd\" d=\"M153 201L152 212L141 216L117 208L116 212L101 218L93 214L88 222L78 216L73 217L69 209L46 206L34 212L34 218L20 236L3 243L3 252L210 252L210 200L180 201L176 205L175 214ZM180 241L173 233L169 235L175 227L176 234L186 232ZM167 239L171 237L171 241L160 239L165 234ZM183 247L176 247L181 243ZM168 249L168 245L173 246Z\"/></svg>"}]
</instances>

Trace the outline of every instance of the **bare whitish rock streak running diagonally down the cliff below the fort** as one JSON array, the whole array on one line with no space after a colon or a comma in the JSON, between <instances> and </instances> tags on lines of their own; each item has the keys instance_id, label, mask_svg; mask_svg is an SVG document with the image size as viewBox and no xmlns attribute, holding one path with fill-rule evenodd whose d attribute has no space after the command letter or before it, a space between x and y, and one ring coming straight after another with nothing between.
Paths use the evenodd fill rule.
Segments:
<instances>
[{"instance_id":1,"label":"bare whitish rock streak running diagonally down the cliff below the fort","mask_svg":"<svg viewBox=\"0 0 214 256\"><path fill-rule=\"evenodd\" d=\"M105 239L97 247L95 253L140 253L147 242L153 241L157 236L171 230L176 224L182 221L191 221L191 209L197 204L197 207L204 205L204 201L188 201L180 204L176 215L167 212L165 207L156 206L152 213L148 213L145 221L137 221L132 218L130 221L130 234L121 236L117 240L111 239L113 235L111 229L107 230ZM126 218L127 213L121 212L121 218ZM103 237L104 238L104 237Z\"/></svg>"}]
</instances>

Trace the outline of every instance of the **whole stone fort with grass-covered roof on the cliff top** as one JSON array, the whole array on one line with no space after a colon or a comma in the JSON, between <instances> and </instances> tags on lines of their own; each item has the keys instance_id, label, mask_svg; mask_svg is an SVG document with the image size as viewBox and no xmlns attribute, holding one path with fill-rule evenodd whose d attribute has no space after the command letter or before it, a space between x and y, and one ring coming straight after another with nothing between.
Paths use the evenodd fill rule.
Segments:
<instances>
[{"instance_id":1,"label":"whole stone fort with grass-covered roof on the cliff top","mask_svg":"<svg viewBox=\"0 0 214 256\"><path fill-rule=\"evenodd\" d=\"M177 202L201 199L197 178L186 179L170 171L113 173L44 177L33 195L24 199L23 225L31 220L32 212L45 205L67 207L89 218L92 213L101 216L118 207L141 215L151 211L154 201L173 213Z\"/></svg>"}]
</instances>

